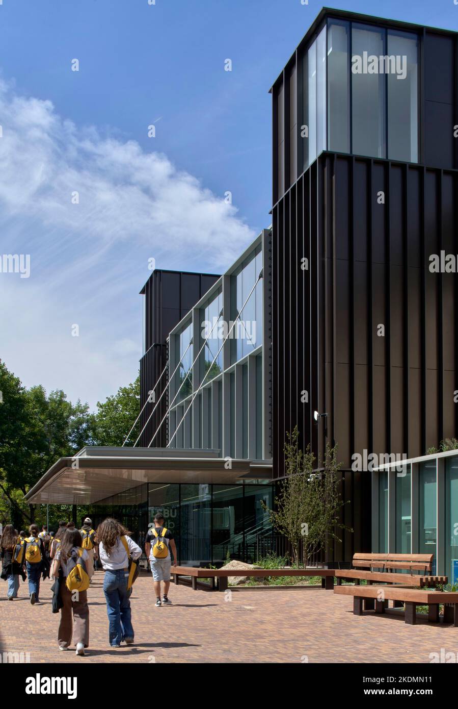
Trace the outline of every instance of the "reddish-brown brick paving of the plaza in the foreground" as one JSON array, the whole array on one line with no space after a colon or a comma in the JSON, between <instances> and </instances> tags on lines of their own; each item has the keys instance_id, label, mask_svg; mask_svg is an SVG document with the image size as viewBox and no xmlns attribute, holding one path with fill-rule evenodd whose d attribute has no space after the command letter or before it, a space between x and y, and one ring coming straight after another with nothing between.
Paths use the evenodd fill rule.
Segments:
<instances>
[{"instance_id":1,"label":"reddish-brown brick paving of the plaza in the foreground","mask_svg":"<svg viewBox=\"0 0 458 709\"><path fill-rule=\"evenodd\" d=\"M151 579L140 576L132 596L134 647L110 649L98 571L88 591L90 648L77 659L57 649L59 617L51 613L51 583L42 603L31 606L26 584L20 598L6 600L0 586L1 649L30 652L31 662L425 662L430 652L458 651L458 628L407 626L402 615L353 615L351 598L321 588L298 590L192 591L171 586L173 605L154 607ZM394 611L398 613L398 611ZM374 654L374 648L379 652Z\"/></svg>"}]
</instances>

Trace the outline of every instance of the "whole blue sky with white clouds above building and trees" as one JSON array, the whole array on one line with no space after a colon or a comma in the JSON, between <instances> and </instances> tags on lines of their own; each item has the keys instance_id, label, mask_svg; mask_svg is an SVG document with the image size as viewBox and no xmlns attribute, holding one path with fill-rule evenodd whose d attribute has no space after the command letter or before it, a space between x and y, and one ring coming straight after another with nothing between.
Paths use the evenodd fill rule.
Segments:
<instances>
[{"instance_id":1,"label":"whole blue sky with white clouds above building and trees","mask_svg":"<svg viewBox=\"0 0 458 709\"><path fill-rule=\"evenodd\" d=\"M453 0L329 4L458 30ZM136 375L148 259L219 272L269 225L268 89L320 9L3 0L0 252L31 272L0 274L0 357L26 386L93 407Z\"/></svg>"}]
</instances>

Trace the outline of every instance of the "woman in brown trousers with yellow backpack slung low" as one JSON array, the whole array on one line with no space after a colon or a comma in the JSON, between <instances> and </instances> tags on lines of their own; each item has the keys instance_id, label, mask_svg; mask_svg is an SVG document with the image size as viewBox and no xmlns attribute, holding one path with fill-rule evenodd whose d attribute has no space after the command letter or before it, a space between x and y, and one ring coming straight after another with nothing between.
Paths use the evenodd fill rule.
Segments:
<instances>
[{"instance_id":1,"label":"woman in brown trousers with yellow backpack slung low","mask_svg":"<svg viewBox=\"0 0 458 709\"><path fill-rule=\"evenodd\" d=\"M81 534L78 530L66 530L51 569L51 575L59 581L59 650L69 649L73 636L77 655L84 655L84 649L89 644L89 558L88 552L81 544Z\"/></svg>"}]
</instances>

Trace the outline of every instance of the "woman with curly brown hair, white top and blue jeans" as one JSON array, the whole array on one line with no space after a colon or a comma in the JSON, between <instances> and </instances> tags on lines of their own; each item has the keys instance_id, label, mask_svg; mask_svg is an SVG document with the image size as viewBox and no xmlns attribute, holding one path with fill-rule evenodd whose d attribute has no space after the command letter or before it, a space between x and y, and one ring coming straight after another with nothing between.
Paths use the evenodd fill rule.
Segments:
<instances>
[{"instance_id":1,"label":"woman with curly brown hair, white top and blue jeans","mask_svg":"<svg viewBox=\"0 0 458 709\"><path fill-rule=\"evenodd\" d=\"M105 569L103 593L107 603L110 645L120 647L123 640L131 645L134 642L134 628L127 591L129 555L134 560L138 559L142 549L127 535L127 530L111 518L98 525L96 540L99 542L98 556Z\"/></svg>"}]
</instances>

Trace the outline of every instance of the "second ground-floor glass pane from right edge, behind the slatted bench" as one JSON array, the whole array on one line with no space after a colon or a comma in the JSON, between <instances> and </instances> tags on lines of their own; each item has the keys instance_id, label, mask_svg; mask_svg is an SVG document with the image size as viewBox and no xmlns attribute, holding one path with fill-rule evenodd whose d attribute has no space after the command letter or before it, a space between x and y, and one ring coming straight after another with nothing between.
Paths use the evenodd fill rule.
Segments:
<instances>
[{"instance_id":1,"label":"second ground-floor glass pane from right edge, behind the slatted bench","mask_svg":"<svg viewBox=\"0 0 458 709\"><path fill-rule=\"evenodd\" d=\"M437 545L437 482L436 462L420 463L418 467L418 552L434 554Z\"/></svg>"}]
</instances>

